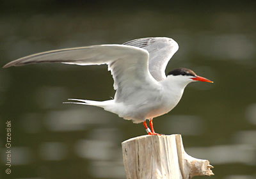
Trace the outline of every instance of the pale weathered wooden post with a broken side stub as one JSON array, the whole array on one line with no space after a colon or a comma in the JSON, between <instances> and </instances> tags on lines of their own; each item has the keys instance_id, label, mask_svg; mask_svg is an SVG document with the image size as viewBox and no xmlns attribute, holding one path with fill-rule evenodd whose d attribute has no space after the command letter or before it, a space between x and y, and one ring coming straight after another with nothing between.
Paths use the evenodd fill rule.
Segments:
<instances>
[{"instance_id":1,"label":"pale weathered wooden post with a broken side stub","mask_svg":"<svg viewBox=\"0 0 256 179\"><path fill-rule=\"evenodd\" d=\"M126 177L129 179L188 179L214 175L209 160L189 156L180 134L140 136L122 143Z\"/></svg>"}]
</instances>

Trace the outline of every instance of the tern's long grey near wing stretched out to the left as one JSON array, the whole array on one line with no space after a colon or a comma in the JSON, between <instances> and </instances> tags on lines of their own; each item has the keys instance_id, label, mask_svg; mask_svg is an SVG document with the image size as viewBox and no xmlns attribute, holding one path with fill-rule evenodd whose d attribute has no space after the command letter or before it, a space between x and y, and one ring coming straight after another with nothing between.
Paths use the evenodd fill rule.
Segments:
<instances>
[{"instance_id":1,"label":"tern's long grey near wing stretched out to the left","mask_svg":"<svg viewBox=\"0 0 256 179\"><path fill-rule=\"evenodd\" d=\"M128 98L140 86L149 89L157 85L148 71L148 52L128 45L93 45L42 52L11 61L4 68L31 63L107 64L113 75L117 101Z\"/></svg>"}]
</instances>

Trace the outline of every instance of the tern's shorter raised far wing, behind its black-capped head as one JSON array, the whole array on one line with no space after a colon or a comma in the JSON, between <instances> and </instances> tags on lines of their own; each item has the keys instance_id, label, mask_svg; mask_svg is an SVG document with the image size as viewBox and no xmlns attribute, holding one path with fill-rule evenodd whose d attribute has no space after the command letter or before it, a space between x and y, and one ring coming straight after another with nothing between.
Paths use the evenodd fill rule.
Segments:
<instances>
[{"instance_id":1,"label":"tern's shorter raised far wing, behind its black-capped head","mask_svg":"<svg viewBox=\"0 0 256 179\"><path fill-rule=\"evenodd\" d=\"M140 47L148 51L148 70L157 81L166 79L164 72L166 65L179 49L177 42L166 37L140 38L125 42L124 45Z\"/></svg>"}]
</instances>

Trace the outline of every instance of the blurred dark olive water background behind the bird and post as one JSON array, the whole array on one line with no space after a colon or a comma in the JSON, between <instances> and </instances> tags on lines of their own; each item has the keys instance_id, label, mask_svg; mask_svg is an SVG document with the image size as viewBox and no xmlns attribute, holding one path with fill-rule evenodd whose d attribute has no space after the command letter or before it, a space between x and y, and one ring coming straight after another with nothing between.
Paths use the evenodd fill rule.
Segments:
<instances>
[{"instance_id":1,"label":"blurred dark olive water background behind the bird and post","mask_svg":"<svg viewBox=\"0 0 256 179\"><path fill-rule=\"evenodd\" d=\"M167 36L179 51L166 68L195 82L173 111L155 118L162 134L182 134L189 155L209 159L211 178L256 178L256 1L0 1L0 65L54 49ZM0 178L125 178L121 143L145 135L97 107L109 100L107 66L62 64L0 69ZM6 121L12 173L6 175ZM195 178L207 178L200 176Z\"/></svg>"}]
</instances>

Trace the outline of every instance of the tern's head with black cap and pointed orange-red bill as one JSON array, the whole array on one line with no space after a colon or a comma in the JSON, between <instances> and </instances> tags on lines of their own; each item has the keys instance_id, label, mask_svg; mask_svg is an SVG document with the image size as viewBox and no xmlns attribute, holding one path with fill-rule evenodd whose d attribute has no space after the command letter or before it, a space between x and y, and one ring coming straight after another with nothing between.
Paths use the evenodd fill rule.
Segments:
<instances>
[{"instance_id":1,"label":"tern's head with black cap and pointed orange-red bill","mask_svg":"<svg viewBox=\"0 0 256 179\"><path fill-rule=\"evenodd\" d=\"M172 82L176 82L177 84L182 84L184 86L193 81L213 82L209 79L196 75L195 72L188 68L177 68L172 70L167 74L167 78L171 78Z\"/></svg>"}]
</instances>

